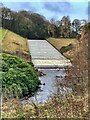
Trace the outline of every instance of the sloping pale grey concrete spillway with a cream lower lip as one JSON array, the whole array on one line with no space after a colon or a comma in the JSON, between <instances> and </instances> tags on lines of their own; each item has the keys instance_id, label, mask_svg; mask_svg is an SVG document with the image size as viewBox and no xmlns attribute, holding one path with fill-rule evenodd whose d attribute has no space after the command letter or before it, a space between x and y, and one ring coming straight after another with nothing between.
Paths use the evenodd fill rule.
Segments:
<instances>
[{"instance_id":1,"label":"sloping pale grey concrete spillway with a cream lower lip","mask_svg":"<svg viewBox=\"0 0 90 120\"><path fill-rule=\"evenodd\" d=\"M71 66L64 57L46 40L28 40L32 62L36 68L61 68Z\"/></svg>"}]
</instances>

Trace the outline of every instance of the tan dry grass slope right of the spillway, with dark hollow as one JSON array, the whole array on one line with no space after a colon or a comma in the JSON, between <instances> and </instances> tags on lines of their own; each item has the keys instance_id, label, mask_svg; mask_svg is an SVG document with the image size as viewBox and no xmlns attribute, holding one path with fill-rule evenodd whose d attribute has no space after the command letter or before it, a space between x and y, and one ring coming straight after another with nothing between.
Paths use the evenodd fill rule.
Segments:
<instances>
[{"instance_id":1,"label":"tan dry grass slope right of the spillway, with dark hollow","mask_svg":"<svg viewBox=\"0 0 90 120\"><path fill-rule=\"evenodd\" d=\"M49 38L48 41L55 46L58 50L60 50L64 46L68 46L69 44L73 45L73 48L64 53L67 58L73 60L76 53L79 51L79 42L77 39L71 38Z\"/></svg>"}]
</instances>

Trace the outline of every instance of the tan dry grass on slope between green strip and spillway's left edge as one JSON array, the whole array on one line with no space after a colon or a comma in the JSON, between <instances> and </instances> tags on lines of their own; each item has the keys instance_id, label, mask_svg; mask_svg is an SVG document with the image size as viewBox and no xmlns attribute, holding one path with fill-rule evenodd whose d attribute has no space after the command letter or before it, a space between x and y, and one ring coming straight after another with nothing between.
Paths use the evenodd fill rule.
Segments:
<instances>
[{"instance_id":1,"label":"tan dry grass on slope between green strip and spillway's left edge","mask_svg":"<svg viewBox=\"0 0 90 120\"><path fill-rule=\"evenodd\" d=\"M26 39L10 31L3 39L2 49L7 52L29 52Z\"/></svg>"}]
</instances>

